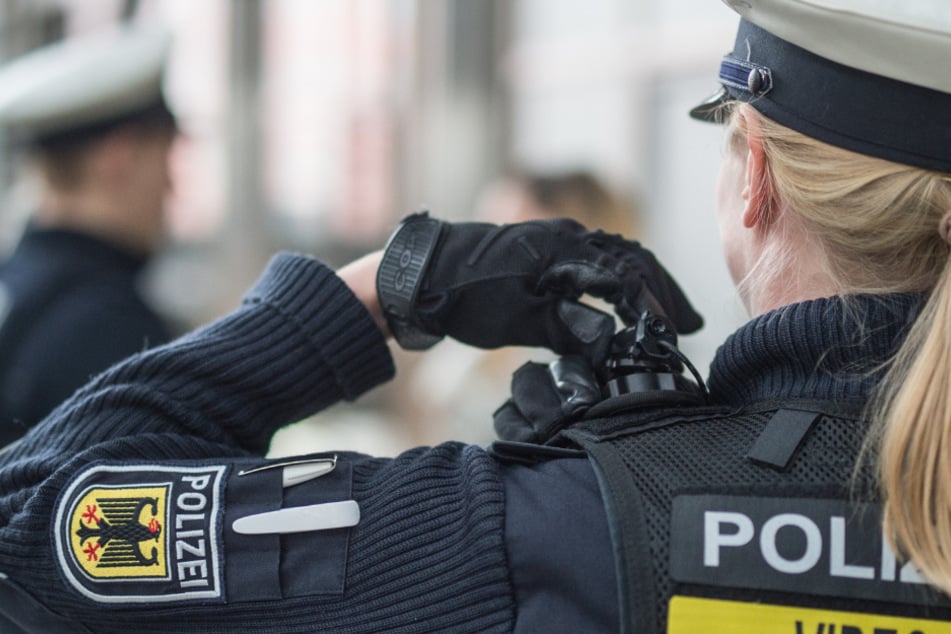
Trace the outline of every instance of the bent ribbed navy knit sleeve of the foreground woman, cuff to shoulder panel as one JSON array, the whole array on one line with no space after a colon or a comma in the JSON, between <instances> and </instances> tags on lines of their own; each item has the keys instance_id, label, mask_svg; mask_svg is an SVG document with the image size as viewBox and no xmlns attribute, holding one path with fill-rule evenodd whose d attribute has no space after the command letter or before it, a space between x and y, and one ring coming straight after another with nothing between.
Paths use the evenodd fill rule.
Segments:
<instances>
[{"instance_id":1,"label":"bent ribbed navy knit sleeve of the foreground woman, cuff to shoulder panel","mask_svg":"<svg viewBox=\"0 0 951 634\"><path fill-rule=\"evenodd\" d=\"M232 314L110 369L0 456L0 584L9 578L40 611L88 628L77 631L510 631L504 490L482 449L447 443L395 459L340 454L331 474L289 488L279 468L260 471L276 429L392 373L382 334L339 278L309 258L275 258ZM257 473L244 478L249 465ZM145 472L139 489L129 488ZM92 473L122 475L115 486L90 485ZM216 488L219 477L227 484ZM139 594L128 583L97 585L102 573L90 590L77 580L85 579L77 561L88 558L76 555L73 536L111 530L109 539L131 540L123 548L134 551L151 539L134 531L150 527L109 515L105 505L148 502L136 491L157 486L185 487L161 489L173 491L165 508L177 515L152 511L157 534L173 535L163 552L179 562L205 557L198 563L207 567L179 563L185 568L171 573L171 586L142 582ZM76 497L90 490L107 498L94 501L107 528L75 516L97 512ZM352 528L248 537L227 519L331 494L359 504ZM95 539L80 547L105 553L106 538ZM198 570L211 595L163 601L164 588L182 591ZM126 600L100 601L101 589Z\"/></svg>"}]
</instances>

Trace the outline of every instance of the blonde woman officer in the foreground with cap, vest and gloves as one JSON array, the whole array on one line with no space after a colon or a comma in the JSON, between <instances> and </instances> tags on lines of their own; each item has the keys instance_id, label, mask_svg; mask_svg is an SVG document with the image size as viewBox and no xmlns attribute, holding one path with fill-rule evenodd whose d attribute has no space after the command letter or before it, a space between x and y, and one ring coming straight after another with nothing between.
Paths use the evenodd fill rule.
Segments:
<instances>
[{"instance_id":1,"label":"blonde woman officer in the foreground with cap, vest and gloves","mask_svg":"<svg viewBox=\"0 0 951 634\"><path fill-rule=\"evenodd\" d=\"M928 0L736 8L695 112L726 126L716 207L752 319L706 386L673 280L571 221L414 215L336 275L279 256L232 315L2 457L10 623L949 631L951 24ZM491 451L263 459L282 424L390 376L386 334L565 356L516 373Z\"/></svg>"}]
</instances>

